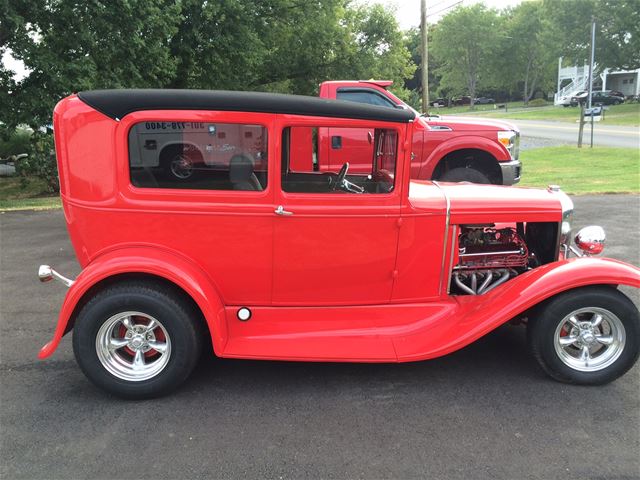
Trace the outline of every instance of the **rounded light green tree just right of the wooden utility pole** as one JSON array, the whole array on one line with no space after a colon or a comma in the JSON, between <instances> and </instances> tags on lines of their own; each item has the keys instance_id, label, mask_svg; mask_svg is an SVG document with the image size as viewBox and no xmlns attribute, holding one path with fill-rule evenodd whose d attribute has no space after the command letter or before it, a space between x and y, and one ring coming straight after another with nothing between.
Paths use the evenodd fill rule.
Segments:
<instances>
[{"instance_id":1,"label":"rounded light green tree just right of the wooden utility pole","mask_svg":"<svg viewBox=\"0 0 640 480\"><path fill-rule=\"evenodd\" d=\"M475 4L456 8L434 31L430 52L440 64L441 88L468 94L471 106L481 82L490 85L490 66L503 36L500 22L495 10Z\"/></svg>"}]
</instances>

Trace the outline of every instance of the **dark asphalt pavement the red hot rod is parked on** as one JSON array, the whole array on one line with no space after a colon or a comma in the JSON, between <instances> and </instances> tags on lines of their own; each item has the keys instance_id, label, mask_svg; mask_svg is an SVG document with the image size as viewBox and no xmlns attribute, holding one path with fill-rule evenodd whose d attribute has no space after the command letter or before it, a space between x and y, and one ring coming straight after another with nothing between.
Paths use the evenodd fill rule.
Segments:
<instances>
[{"instance_id":1,"label":"dark asphalt pavement the red hot rod is parked on","mask_svg":"<svg viewBox=\"0 0 640 480\"><path fill-rule=\"evenodd\" d=\"M611 256L639 262L640 197L576 198ZM640 476L640 366L604 387L549 380L504 327L406 365L203 359L167 398L125 402L65 338L36 359L78 267L60 211L0 214L0 478L591 478ZM637 301L637 296L635 297Z\"/></svg>"}]
</instances>

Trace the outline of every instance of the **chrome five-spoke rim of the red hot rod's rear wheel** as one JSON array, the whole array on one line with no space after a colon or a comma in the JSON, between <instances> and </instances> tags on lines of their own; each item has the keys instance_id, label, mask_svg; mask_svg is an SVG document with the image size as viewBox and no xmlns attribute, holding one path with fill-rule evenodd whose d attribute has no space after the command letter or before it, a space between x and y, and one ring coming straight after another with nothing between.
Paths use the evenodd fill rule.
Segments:
<instances>
[{"instance_id":1,"label":"chrome five-spoke rim of the red hot rod's rear wheel","mask_svg":"<svg viewBox=\"0 0 640 480\"><path fill-rule=\"evenodd\" d=\"M122 312L102 324L96 335L96 353L113 376L141 382L158 375L171 358L171 339L154 317Z\"/></svg>"}]
</instances>

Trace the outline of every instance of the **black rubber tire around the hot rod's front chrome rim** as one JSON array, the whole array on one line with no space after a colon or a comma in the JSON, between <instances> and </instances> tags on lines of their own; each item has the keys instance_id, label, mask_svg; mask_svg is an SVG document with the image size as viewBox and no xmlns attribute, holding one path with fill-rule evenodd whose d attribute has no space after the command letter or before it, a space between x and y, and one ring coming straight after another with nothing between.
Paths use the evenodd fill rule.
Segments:
<instances>
[{"instance_id":1,"label":"black rubber tire around the hot rod's front chrome rim","mask_svg":"<svg viewBox=\"0 0 640 480\"><path fill-rule=\"evenodd\" d=\"M559 344L557 343L556 335L560 329L560 324L564 323L570 326L569 323L565 323L565 319L581 309L607 311L619 320L624 330L624 344L622 347L605 347L597 343L592 347L587 347L600 349L617 348L615 350L617 356L613 355L611 357L612 363L603 363L601 367L593 363L591 368L595 370L592 371L582 371L570 366L557 351L557 349L562 349L563 347L556 347ZM588 312L579 314L578 318L580 318L580 315L587 314ZM600 329L605 328L604 325L607 321L610 322L611 320L603 320ZM575 330L578 331L577 329ZM601 332L600 334L602 335L603 333ZM613 334L610 336L614 337ZM637 361L640 353L640 314L633 302L614 287L584 287L559 294L541 305L529 319L527 337L531 353L542 370L550 377L565 383L602 385L624 375ZM579 350L583 346L581 343L577 343L564 348ZM598 355L598 351L595 353ZM605 350L600 350L600 355L605 353ZM598 358L606 357L593 357L593 362L597 362ZM591 361L592 358L589 357L589 360Z\"/></svg>"}]
</instances>

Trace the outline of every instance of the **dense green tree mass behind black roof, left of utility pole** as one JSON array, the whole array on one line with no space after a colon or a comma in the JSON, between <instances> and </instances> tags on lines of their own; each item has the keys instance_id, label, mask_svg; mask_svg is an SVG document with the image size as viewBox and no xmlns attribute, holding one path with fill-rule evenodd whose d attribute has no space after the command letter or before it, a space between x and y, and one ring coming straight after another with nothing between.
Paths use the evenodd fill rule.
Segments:
<instances>
[{"instance_id":1,"label":"dense green tree mass behind black roof, left of utility pole","mask_svg":"<svg viewBox=\"0 0 640 480\"><path fill-rule=\"evenodd\" d=\"M393 13L349 0L0 0L8 129L50 124L55 103L95 88L217 88L313 94L327 79L415 68Z\"/></svg>"}]
</instances>

